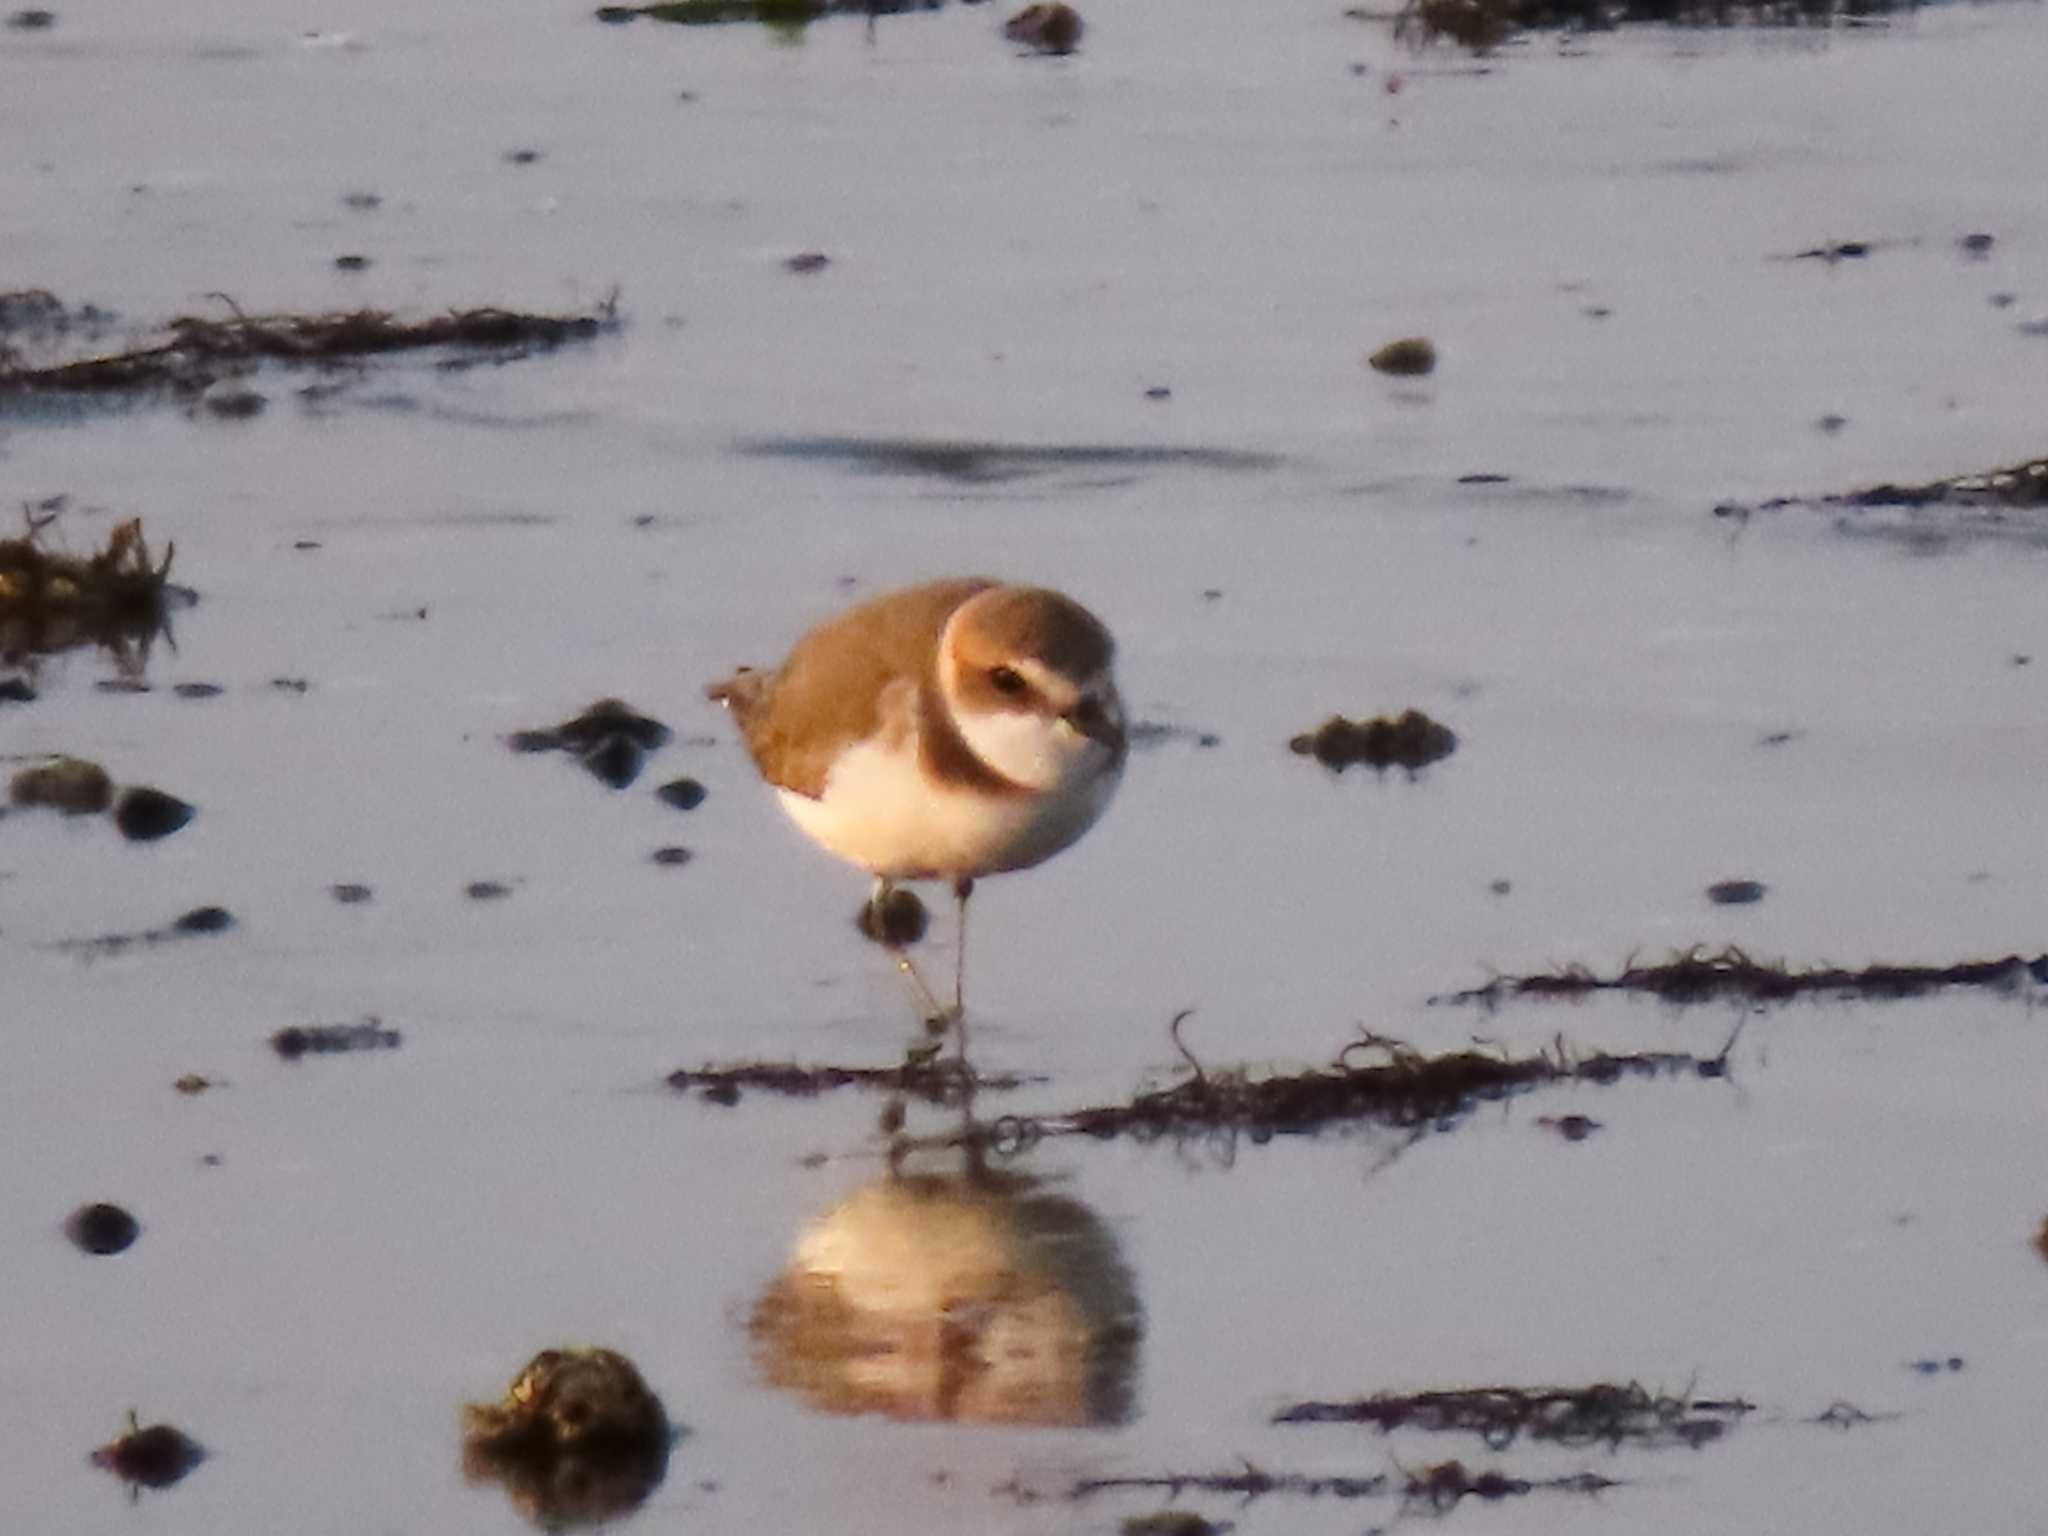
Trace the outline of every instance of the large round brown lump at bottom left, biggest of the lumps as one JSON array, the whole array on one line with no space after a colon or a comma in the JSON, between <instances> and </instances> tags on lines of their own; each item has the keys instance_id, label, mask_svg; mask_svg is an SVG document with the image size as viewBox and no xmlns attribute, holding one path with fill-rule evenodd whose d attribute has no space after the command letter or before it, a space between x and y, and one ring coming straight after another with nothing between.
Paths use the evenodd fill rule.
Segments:
<instances>
[{"instance_id":1,"label":"large round brown lump at bottom left, biggest of the lumps","mask_svg":"<svg viewBox=\"0 0 2048 1536\"><path fill-rule=\"evenodd\" d=\"M659 1487L676 1434L616 1350L543 1350L504 1401L463 1407L463 1475L504 1487L541 1530L596 1526Z\"/></svg>"}]
</instances>

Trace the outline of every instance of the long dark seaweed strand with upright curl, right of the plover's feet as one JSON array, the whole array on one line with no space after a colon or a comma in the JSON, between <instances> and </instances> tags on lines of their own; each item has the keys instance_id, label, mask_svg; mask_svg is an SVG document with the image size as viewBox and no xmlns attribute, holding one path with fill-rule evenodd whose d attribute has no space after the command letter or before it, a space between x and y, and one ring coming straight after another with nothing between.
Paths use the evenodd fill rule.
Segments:
<instances>
[{"instance_id":1,"label":"long dark seaweed strand with upright curl, right of the plover's feet","mask_svg":"<svg viewBox=\"0 0 2048 1536\"><path fill-rule=\"evenodd\" d=\"M1550 1083L1614 1083L1622 1077L1724 1079L1729 1053L1741 1038L1737 1026L1720 1053L1696 1057L1681 1051L1626 1053L1575 1051L1559 1038L1536 1055L1509 1055L1470 1047L1423 1055L1382 1034L1352 1040L1329 1067L1253 1075L1249 1069L1206 1069L1180 1040L1180 1014L1169 1026L1190 1075L1171 1087L1141 1092L1126 1104L1098 1104L1055 1114L1006 1114L987 1122L922 1139L903 1149L979 1147L997 1155L1028 1151L1051 1137L1135 1137L1139 1141L1192 1141L1223 1137L1237 1145L1272 1137L1317 1135L1341 1124L1382 1124L1423 1135L1448 1130L1479 1104L1526 1094Z\"/></svg>"}]
</instances>

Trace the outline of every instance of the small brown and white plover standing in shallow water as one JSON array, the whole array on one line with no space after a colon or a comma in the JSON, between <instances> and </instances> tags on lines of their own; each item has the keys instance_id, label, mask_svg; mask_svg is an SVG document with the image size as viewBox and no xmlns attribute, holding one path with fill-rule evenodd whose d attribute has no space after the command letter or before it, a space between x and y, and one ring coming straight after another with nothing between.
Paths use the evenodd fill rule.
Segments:
<instances>
[{"instance_id":1,"label":"small brown and white plover standing in shallow water","mask_svg":"<svg viewBox=\"0 0 2048 1536\"><path fill-rule=\"evenodd\" d=\"M1110 631L1059 592L930 582L827 618L776 670L741 668L707 694L731 709L791 819L874 877L864 932L889 942L897 881L952 881L958 1022L975 881L1067 848L1122 778L1112 653Z\"/></svg>"}]
</instances>

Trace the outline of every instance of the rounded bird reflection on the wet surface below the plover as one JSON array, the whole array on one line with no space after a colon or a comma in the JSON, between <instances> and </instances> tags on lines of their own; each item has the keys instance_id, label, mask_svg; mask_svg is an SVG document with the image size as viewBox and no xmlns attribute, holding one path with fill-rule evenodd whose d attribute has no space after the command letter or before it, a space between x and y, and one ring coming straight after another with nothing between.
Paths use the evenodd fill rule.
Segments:
<instances>
[{"instance_id":1,"label":"rounded bird reflection on the wet surface below the plover","mask_svg":"<svg viewBox=\"0 0 2048 1536\"><path fill-rule=\"evenodd\" d=\"M1079 1200L989 1169L889 1174L803 1229L750 1331L762 1378L825 1413L1114 1425L1143 1309Z\"/></svg>"}]
</instances>

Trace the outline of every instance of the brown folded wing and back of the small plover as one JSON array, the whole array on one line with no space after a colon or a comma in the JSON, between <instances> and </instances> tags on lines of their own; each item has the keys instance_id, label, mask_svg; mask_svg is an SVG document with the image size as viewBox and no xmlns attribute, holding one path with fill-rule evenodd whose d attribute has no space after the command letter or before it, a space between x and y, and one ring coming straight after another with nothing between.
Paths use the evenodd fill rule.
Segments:
<instances>
[{"instance_id":1,"label":"brown folded wing and back of the small plover","mask_svg":"<svg viewBox=\"0 0 2048 1536\"><path fill-rule=\"evenodd\" d=\"M762 778L823 795L838 756L881 729L889 684L918 684L946 618L989 586L930 582L870 598L807 633L774 672L741 670L707 692L731 709Z\"/></svg>"}]
</instances>

